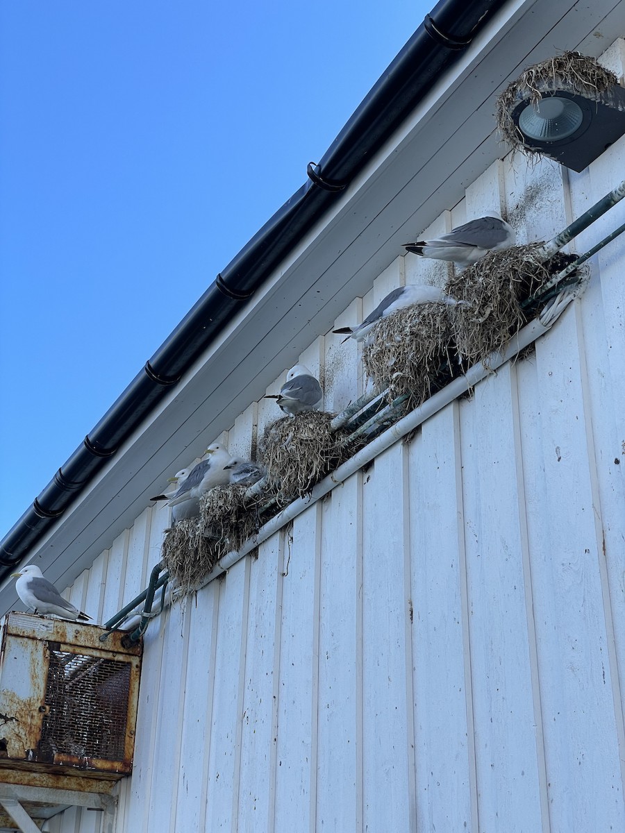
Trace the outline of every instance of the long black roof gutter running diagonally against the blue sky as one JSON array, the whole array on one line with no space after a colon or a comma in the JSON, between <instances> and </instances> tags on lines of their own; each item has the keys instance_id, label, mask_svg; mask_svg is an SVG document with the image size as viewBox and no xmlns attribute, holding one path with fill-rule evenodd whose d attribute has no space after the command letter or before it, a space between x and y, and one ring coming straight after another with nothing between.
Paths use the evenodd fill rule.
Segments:
<instances>
[{"instance_id":1,"label":"long black roof gutter running diagonally against the blue sky","mask_svg":"<svg viewBox=\"0 0 625 833\"><path fill-rule=\"evenodd\" d=\"M218 275L0 541L0 581L52 528L506 2L442 0L433 8L318 165L308 166L308 181Z\"/></svg>"}]
</instances>

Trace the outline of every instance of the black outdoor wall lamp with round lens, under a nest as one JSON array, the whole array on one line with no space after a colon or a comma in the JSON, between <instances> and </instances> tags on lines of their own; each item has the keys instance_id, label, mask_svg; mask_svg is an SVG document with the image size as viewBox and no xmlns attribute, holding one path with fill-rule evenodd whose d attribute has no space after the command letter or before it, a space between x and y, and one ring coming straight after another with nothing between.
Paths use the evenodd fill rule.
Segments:
<instances>
[{"instance_id":1,"label":"black outdoor wall lamp with round lens, under a nest","mask_svg":"<svg viewBox=\"0 0 625 833\"><path fill-rule=\"evenodd\" d=\"M587 97L558 79L557 87L545 85L541 93L532 102L531 90L518 92L510 112L529 152L579 172L625 133L625 90L617 84Z\"/></svg>"}]
</instances>

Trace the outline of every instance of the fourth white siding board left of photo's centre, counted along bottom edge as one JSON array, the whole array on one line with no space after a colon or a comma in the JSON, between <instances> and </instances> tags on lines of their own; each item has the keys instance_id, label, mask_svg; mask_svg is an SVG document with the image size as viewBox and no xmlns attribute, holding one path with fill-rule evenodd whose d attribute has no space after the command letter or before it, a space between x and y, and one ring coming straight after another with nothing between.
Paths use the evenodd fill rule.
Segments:
<instances>
[{"instance_id":1,"label":"fourth white siding board left of photo's centre, counted along bottom edge","mask_svg":"<svg viewBox=\"0 0 625 833\"><path fill-rule=\"evenodd\" d=\"M184 712L180 734L178 801L170 829L204 829L208 753L213 725L215 655L222 581L212 581L187 607L189 619Z\"/></svg>"}]
</instances>

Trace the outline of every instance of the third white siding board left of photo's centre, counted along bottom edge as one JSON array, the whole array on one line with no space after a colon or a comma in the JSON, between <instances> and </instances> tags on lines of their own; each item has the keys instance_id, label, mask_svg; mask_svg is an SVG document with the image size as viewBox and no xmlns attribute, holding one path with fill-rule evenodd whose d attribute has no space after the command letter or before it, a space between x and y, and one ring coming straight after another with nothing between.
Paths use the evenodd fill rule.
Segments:
<instances>
[{"instance_id":1,"label":"third white siding board left of photo's centre, counted along bottom edge","mask_svg":"<svg viewBox=\"0 0 625 833\"><path fill-rule=\"evenodd\" d=\"M248 596L253 558L246 556L219 579L213 725L207 778L206 831L238 826L238 780L243 730L243 686L248 636Z\"/></svg>"}]
</instances>

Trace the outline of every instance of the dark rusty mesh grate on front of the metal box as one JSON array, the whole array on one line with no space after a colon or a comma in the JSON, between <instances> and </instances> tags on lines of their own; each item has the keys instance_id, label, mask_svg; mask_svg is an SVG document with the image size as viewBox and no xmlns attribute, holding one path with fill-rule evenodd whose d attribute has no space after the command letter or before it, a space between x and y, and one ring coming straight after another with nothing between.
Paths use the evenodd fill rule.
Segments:
<instances>
[{"instance_id":1,"label":"dark rusty mesh grate on front of the metal box","mask_svg":"<svg viewBox=\"0 0 625 833\"><path fill-rule=\"evenodd\" d=\"M51 650L40 750L121 761L130 672L129 662Z\"/></svg>"}]
</instances>

